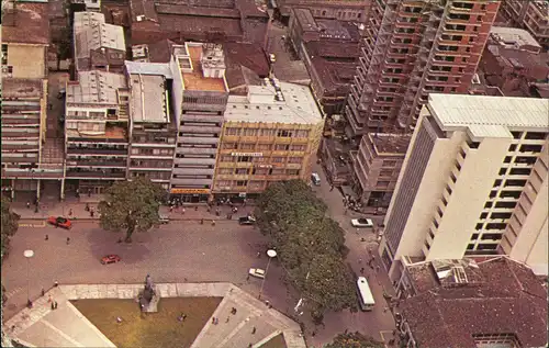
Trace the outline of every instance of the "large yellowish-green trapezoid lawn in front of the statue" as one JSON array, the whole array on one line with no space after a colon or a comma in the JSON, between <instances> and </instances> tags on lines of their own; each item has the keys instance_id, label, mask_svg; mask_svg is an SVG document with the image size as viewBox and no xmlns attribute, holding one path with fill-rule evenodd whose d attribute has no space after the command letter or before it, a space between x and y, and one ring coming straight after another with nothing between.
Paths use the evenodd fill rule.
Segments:
<instances>
[{"instance_id":1,"label":"large yellowish-green trapezoid lawn in front of the statue","mask_svg":"<svg viewBox=\"0 0 549 348\"><path fill-rule=\"evenodd\" d=\"M157 313L141 313L134 300L70 301L117 348L188 348L222 298L163 298ZM177 318L187 314L184 322ZM123 322L117 324L116 317ZM282 347L282 346L281 346ZM283 346L285 347L285 346Z\"/></svg>"}]
</instances>

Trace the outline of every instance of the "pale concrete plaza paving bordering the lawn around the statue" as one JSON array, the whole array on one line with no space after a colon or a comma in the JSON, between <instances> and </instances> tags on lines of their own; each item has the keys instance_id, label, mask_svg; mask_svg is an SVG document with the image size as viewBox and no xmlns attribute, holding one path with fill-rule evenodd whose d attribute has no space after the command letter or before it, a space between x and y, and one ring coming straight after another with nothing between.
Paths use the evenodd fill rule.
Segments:
<instances>
[{"instance_id":1,"label":"pale concrete plaza paving bordering the lawn around the statue","mask_svg":"<svg viewBox=\"0 0 549 348\"><path fill-rule=\"evenodd\" d=\"M224 298L191 348L260 347L283 334L288 348L305 348L300 326L231 283L158 283L163 298ZM8 334L29 347L114 347L69 302L79 299L136 299L143 284L59 285L5 323ZM58 303L51 308L51 301ZM232 308L237 308L232 314ZM213 324L212 318L219 318ZM225 321L225 318L227 318Z\"/></svg>"}]
</instances>

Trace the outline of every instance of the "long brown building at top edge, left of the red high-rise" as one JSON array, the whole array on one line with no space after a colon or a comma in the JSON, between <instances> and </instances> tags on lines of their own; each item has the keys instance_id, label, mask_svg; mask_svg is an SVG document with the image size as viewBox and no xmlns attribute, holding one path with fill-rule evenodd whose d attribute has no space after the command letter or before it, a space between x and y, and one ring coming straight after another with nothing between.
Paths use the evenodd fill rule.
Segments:
<instances>
[{"instance_id":1,"label":"long brown building at top edge, left of the red high-rise","mask_svg":"<svg viewBox=\"0 0 549 348\"><path fill-rule=\"evenodd\" d=\"M292 9L309 9L318 19L365 23L370 2L370 0L278 0L277 14L282 21L288 21Z\"/></svg>"}]
</instances>

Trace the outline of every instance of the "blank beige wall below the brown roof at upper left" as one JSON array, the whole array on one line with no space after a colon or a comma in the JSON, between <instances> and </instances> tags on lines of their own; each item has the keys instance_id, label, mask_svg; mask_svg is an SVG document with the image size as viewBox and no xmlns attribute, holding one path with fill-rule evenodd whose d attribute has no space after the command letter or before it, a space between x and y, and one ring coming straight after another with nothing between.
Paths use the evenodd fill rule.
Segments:
<instances>
[{"instance_id":1,"label":"blank beige wall below the brown roof at upper left","mask_svg":"<svg viewBox=\"0 0 549 348\"><path fill-rule=\"evenodd\" d=\"M22 79L46 78L46 46L7 44L8 67L13 67L11 77ZM7 76L5 74L2 74Z\"/></svg>"}]
</instances>

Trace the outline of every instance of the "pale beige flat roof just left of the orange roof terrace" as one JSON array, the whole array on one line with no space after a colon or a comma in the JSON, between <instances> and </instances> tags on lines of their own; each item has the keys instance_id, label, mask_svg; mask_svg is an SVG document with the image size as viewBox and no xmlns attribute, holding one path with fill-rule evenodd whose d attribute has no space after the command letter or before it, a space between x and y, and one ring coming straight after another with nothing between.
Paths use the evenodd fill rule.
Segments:
<instances>
[{"instance_id":1,"label":"pale beige flat roof just left of the orange roof terrace","mask_svg":"<svg viewBox=\"0 0 549 348\"><path fill-rule=\"evenodd\" d=\"M134 122L169 123L166 79L161 75L130 75Z\"/></svg>"}]
</instances>

